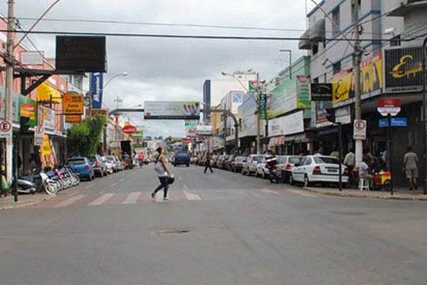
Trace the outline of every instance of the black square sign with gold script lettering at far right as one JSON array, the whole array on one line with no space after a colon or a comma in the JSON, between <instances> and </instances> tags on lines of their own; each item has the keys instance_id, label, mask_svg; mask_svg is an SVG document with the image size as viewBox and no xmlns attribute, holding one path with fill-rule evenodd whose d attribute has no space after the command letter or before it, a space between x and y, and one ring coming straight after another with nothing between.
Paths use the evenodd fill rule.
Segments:
<instances>
[{"instance_id":1,"label":"black square sign with gold script lettering at far right","mask_svg":"<svg viewBox=\"0 0 427 285\"><path fill-rule=\"evenodd\" d=\"M386 92L423 89L423 49L421 46L386 49Z\"/></svg>"}]
</instances>

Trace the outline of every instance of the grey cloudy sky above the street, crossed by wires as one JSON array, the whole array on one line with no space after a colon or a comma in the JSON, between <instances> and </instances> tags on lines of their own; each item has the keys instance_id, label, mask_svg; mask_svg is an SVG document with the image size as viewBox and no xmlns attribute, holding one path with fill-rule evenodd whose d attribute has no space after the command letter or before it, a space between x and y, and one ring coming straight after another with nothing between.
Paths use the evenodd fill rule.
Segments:
<instances>
[{"instance_id":1,"label":"grey cloudy sky above the street, crossed by wires","mask_svg":"<svg viewBox=\"0 0 427 285\"><path fill-rule=\"evenodd\" d=\"M6 1L1 2L0 12L7 15ZM17 0L15 15L21 27L29 28L53 2ZM44 18L51 21L41 21L35 30L298 37L306 27L305 8L305 0L61 0ZM55 56L55 36L33 34L30 38L46 57ZM25 44L35 49L28 41ZM305 54L298 51L297 41L108 37L105 80L122 72L128 76L111 81L105 89L104 103L114 108L117 95L123 100L123 108L143 104L144 100L202 100L204 81L221 79L222 71L253 68L260 78L271 79L288 66L288 54L279 52L283 48L292 49L294 59ZM144 121L142 115L125 116L144 125L149 135L184 135L182 121Z\"/></svg>"}]
</instances>

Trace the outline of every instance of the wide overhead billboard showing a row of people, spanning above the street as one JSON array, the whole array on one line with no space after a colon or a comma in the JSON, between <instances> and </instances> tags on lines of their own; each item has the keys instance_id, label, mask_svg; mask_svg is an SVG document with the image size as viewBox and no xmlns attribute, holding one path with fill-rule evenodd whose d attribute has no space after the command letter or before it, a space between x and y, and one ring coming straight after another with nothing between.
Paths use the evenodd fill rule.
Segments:
<instances>
[{"instance_id":1,"label":"wide overhead billboard showing a row of people, spanning above the street","mask_svg":"<svg viewBox=\"0 0 427 285\"><path fill-rule=\"evenodd\" d=\"M199 120L200 103L195 101L146 101L146 120Z\"/></svg>"}]
</instances>

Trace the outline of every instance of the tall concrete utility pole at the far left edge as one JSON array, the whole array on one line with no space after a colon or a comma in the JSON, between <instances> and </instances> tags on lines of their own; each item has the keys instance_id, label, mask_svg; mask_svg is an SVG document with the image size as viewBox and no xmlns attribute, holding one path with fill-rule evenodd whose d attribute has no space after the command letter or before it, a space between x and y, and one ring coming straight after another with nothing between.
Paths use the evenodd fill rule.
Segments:
<instances>
[{"instance_id":1,"label":"tall concrete utility pole at the far left edge","mask_svg":"<svg viewBox=\"0 0 427 285\"><path fill-rule=\"evenodd\" d=\"M13 102L13 87L14 87L14 0L9 0L7 14L7 43L6 43L6 120L13 122L12 117L12 102ZM6 139L6 180L11 181L12 178L12 160L13 160L14 139Z\"/></svg>"}]
</instances>

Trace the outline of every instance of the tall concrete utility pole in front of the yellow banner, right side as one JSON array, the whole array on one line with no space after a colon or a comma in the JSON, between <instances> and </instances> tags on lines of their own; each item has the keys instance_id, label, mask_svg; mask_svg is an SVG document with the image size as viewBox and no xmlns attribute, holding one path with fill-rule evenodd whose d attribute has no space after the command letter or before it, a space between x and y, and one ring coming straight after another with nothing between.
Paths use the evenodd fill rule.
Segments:
<instances>
[{"instance_id":1,"label":"tall concrete utility pole in front of the yellow banner, right side","mask_svg":"<svg viewBox=\"0 0 427 285\"><path fill-rule=\"evenodd\" d=\"M362 119L362 103L360 94L360 62L361 62L361 49L360 49L360 35L359 35L359 1L353 0L354 5L354 119ZM363 157L363 141L355 140L356 149L356 166L359 167Z\"/></svg>"}]
</instances>

